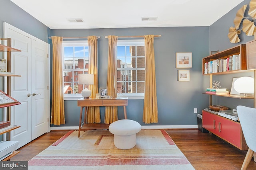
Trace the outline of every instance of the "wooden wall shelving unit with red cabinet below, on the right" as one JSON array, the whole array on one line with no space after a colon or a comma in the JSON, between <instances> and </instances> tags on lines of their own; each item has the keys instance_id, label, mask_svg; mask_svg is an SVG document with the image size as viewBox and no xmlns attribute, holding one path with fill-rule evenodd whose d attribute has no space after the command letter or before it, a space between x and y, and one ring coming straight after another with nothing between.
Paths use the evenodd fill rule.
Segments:
<instances>
[{"instance_id":1,"label":"wooden wall shelving unit with red cabinet below, on the right","mask_svg":"<svg viewBox=\"0 0 256 170\"><path fill-rule=\"evenodd\" d=\"M205 63L211 62L211 61L220 61L220 59L226 60L227 58L230 58L230 56L233 55L240 55L238 57L237 62L239 63L239 66L235 70L225 70L214 73L209 73L205 71ZM219 63L220 64L220 63ZM234 63L233 63L234 64ZM204 76L208 75L210 76L210 88L212 88L212 76L214 75L222 75L222 74L234 74L239 72L249 72L250 70L247 70L247 62L246 62L246 44L240 44L235 47L232 47L230 49L226 49L224 51L209 55L208 57L205 57L202 59L202 74ZM206 93L203 93L206 94ZM212 96L214 94L207 94L209 95L209 105L212 105ZM221 95L215 95L215 96L221 96L221 97L227 97L227 98L238 98L238 99L255 99L251 96L240 96L240 95L232 95L232 94L221 94ZM254 100L255 101L255 100ZM247 150L248 147L246 145L244 135L242 133L242 128L239 122L227 119L225 117L221 117L217 114L210 113L208 111L203 110L203 127L210 131L210 133L214 133L214 135L220 137L221 139L227 141L234 147L240 149L240 150ZM232 135L230 135L232 134Z\"/></svg>"}]
</instances>

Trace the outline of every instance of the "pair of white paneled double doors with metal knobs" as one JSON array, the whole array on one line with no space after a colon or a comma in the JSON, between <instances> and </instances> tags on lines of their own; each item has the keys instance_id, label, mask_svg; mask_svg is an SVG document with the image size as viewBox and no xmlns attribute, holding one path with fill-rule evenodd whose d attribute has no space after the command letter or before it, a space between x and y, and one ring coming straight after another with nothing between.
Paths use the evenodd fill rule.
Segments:
<instances>
[{"instance_id":1,"label":"pair of white paneled double doors with metal knobs","mask_svg":"<svg viewBox=\"0 0 256 170\"><path fill-rule=\"evenodd\" d=\"M48 44L4 23L4 37L12 39L11 96L21 104L11 107L11 124L20 128L11 132L12 141L19 147L48 131ZM33 96L34 94L34 96Z\"/></svg>"}]
</instances>

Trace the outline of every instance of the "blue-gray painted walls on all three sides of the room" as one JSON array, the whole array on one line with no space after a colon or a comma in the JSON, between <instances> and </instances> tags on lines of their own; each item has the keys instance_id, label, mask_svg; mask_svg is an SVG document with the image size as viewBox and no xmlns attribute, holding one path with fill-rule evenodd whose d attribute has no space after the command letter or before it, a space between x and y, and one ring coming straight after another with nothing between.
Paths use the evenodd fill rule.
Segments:
<instances>
[{"instance_id":1,"label":"blue-gray painted walls on all three sides of the room","mask_svg":"<svg viewBox=\"0 0 256 170\"><path fill-rule=\"evenodd\" d=\"M154 39L158 123L150 125L197 125L194 108L198 108L198 113L200 113L202 109L208 107L209 99L208 95L202 94L209 86L208 76L202 76L202 58L209 55L209 51L217 49L222 51L236 45L229 42L228 28L233 25L236 11L243 4L248 3L249 0L245 0L210 27L49 29L10 0L0 0L0 36L3 37L3 21L46 42L50 42L48 36L53 35L63 37L100 36L101 38L98 39L98 78L99 87L103 87L106 86L108 63L108 39L104 38L106 35L162 35L162 37ZM244 37L243 43L251 39L253 37ZM177 69L176 52L192 52L192 68ZM190 70L190 81L178 82L178 70ZM230 80L220 79L222 87L231 88L233 76L235 75L230 76ZM233 100L214 98L216 104L224 103L223 105L225 105L230 101L240 104L241 102L241 100L235 102ZM230 107L230 105L228 106ZM64 126L78 126L79 111L80 108L77 107L76 101L65 101L66 125ZM128 101L128 119L145 125L142 122L142 112L143 100ZM101 107L101 116L104 120L104 107ZM119 119L124 118L122 107L118 109L118 117Z\"/></svg>"}]
</instances>

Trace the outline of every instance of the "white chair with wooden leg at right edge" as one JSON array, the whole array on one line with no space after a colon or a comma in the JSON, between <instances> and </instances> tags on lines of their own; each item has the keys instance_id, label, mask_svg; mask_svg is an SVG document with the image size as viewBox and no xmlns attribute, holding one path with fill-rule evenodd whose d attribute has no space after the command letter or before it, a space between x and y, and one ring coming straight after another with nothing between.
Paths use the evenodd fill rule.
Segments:
<instances>
[{"instance_id":1,"label":"white chair with wooden leg at right edge","mask_svg":"<svg viewBox=\"0 0 256 170\"><path fill-rule=\"evenodd\" d=\"M256 109L246 106L237 106L236 109L244 139L249 147L241 168L241 170L246 170L256 151Z\"/></svg>"}]
</instances>

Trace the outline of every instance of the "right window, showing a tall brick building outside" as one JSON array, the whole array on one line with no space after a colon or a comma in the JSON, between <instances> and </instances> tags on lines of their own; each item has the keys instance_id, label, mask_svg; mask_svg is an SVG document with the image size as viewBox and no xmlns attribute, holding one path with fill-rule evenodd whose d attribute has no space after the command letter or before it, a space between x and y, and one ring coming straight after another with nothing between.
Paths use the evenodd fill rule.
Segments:
<instances>
[{"instance_id":1,"label":"right window, showing a tall brick building outside","mask_svg":"<svg viewBox=\"0 0 256 170\"><path fill-rule=\"evenodd\" d=\"M117 93L143 96L145 86L145 45L142 40L118 40Z\"/></svg>"}]
</instances>

